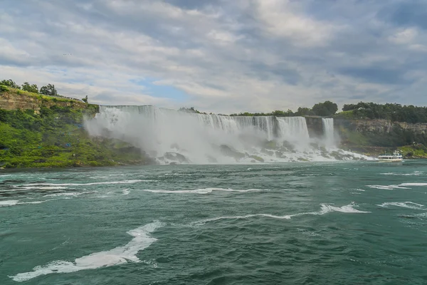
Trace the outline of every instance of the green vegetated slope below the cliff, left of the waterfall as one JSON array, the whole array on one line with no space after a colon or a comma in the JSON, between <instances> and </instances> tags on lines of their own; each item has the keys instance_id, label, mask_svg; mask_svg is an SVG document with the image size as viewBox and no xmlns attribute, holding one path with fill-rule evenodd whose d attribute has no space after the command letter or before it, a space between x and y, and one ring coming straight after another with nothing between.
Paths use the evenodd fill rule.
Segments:
<instances>
[{"instance_id":1,"label":"green vegetated slope below the cliff, left of the waterfall","mask_svg":"<svg viewBox=\"0 0 427 285\"><path fill-rule=\"evenodd\" d=\"M46 100L53 99L48 97ZM93 116L96 110L97 105L89 104L85 108L42 106L40 114L33 110L0 109L0 167L73 167L150 162L139 149L125 142L90 138L82 126L83 118Z\"/></svg>"}]
</instances>

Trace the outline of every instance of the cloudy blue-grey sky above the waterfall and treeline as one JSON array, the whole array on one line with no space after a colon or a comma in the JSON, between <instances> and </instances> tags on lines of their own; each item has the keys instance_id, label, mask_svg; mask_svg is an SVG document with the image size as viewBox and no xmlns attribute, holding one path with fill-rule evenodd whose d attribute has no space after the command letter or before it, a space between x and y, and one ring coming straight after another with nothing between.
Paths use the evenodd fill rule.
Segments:
<instances>
[{"instance_id":1,"label":"cloudy blue-grey sky above the waterfall and treeline","mask_svg":"<svg viewBox=\"0 0 427 285\"><path fill-rule=\"evenodd\" d=\"M424 0L0 0L0 80L214 113L427 105Z\"/></svg>"}]
</instances>

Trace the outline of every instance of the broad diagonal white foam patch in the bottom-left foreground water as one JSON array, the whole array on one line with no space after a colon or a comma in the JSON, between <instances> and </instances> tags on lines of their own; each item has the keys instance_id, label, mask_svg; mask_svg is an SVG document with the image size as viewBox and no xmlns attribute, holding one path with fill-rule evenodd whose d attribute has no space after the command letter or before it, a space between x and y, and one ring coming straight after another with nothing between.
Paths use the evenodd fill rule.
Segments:
<instances>
[{"instance_id":1,"label":"broad diagonal white foam patch in the bottom-left foreground water","mask_svg":"<svg viewBox=\"0 0 427 285\"><path fill-rule=\"evenodd\" d=\"M19 273L14 276L9 276L14 281L22 282L37 276L53 274L53 273L70 273L85 269L97 269L107 266L115 266L125 264L127 261L139 262L136 254L149 247L157 239L149 234L154 232L159 227L162 227L161 222L152 222L137 229L132 229L127 234L130 234L133 239L123 247L116 247L106 252L95 252L75 259L75 261L52 261L45 266L36 266L33 271Z\"/></svg>"}]
</instances>

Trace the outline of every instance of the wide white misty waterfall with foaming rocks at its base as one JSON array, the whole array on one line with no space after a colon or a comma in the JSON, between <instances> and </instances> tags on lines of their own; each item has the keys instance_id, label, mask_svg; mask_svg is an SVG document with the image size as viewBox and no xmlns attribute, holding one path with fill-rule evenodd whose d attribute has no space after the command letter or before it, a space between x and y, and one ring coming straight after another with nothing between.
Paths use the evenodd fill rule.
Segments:
<instances>
[{"instance_id":1,"label":"wide white misty waterfall with foaming rocks at its base","mask_svg":"<svg viewBox=\"0 0 427 285\"><path fill-rule=\"evenodd\" d=\"M90 135L129 142L159 163L367 158L337 148L321 147L325 142L321 138L310 138L303 117L208 115L152 105L100 106L100 113L87 120L85 128Z\"/></svg>"}]
</instances>

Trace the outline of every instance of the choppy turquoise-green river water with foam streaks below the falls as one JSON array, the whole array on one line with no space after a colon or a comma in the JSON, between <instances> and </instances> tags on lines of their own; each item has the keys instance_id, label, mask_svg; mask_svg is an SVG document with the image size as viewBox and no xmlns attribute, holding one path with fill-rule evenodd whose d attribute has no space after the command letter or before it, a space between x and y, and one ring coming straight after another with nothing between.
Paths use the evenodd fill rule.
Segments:
<instances>
[{"instance_id":1,"label":"choppy turquoise-green river water with foam streaks below the falls","mask_svg":"<svg viewBox=\"0 0 427 285\"><path fill-rule=\"evenodd\" d=\"M427 284L427 161L0 173L0 284Z\"/></svg>"}]
</instances>

